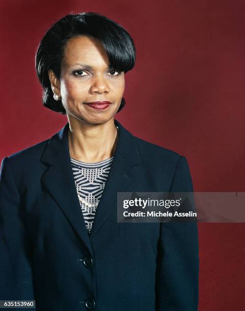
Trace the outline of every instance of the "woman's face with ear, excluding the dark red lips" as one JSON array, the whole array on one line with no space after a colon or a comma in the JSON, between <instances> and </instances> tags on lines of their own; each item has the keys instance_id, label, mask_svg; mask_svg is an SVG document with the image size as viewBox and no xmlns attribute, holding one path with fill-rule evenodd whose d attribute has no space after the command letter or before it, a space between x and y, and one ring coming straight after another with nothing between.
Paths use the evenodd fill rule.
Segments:
<instances>
[{"instance_id":1,"label":"woman's face with ear, excluding the dark red lips","mask_svg":"<svg viewBox=\"0 0 245 311\"><path fill-rule=\"evenodd\" d=\"M108 68L109 65L100 41L80 36L67 42L60 79L56 79L52 71L49 78L69 119L96 124L106 122L116 114L125 87L124 72ZM102 110L85 104L97 101L111 104Z\"/></svg>"}]
</instances>

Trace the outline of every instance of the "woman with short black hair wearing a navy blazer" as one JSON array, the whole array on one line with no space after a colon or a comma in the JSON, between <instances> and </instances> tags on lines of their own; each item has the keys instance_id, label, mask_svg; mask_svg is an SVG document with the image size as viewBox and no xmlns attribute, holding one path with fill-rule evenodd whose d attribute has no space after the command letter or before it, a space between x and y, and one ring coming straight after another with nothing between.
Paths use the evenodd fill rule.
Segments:
<instances>
[{"instance_id":1,"label":"woman with short black hair wearing a navy blazer","mask_svg":"<svg viewBox=\"0 0 245 311\"><path fill-rule=\"evenodd\" d=\"M68 122L1 166L1 300L37 310L197 310L196 223L117 223L117 192L192 192L185 157L116 119L130 35L67 15L36 54L45 107ZM110 172L110 174L109 174Z\"/></svg>"}]
</instances>

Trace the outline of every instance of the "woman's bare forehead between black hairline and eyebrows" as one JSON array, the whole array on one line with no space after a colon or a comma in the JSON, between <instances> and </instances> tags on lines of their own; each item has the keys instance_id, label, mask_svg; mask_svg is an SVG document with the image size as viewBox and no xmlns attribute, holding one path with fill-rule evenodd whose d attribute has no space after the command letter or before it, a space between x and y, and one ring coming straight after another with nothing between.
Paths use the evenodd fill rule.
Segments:
<instances>
[{"instance_id":1,"label":"woman's bare forehead between black hairline and eyebrows","mask_svg":"<svg viewBox=\"0 0 245 311\"><path fill-rule=\"evenodd\" d=\"M64 49L63 66L76 63L108 65L108 56L102 43L94 38L79 36L68 40Z\"/></svg>"}]
</instances>

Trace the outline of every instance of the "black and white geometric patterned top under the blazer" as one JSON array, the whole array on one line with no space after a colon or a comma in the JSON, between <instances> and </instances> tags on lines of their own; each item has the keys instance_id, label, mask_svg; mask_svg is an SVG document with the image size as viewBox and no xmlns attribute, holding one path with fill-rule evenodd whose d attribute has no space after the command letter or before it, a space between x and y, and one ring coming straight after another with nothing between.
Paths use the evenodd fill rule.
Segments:
<instances>
[{"instance_id":1,"label":"black and white geometric patterned top under the blazer","mask_svg":"<svg viewBox=\"0 0 245 311\"><path fill-rule=\"evenodd\" d=\"M96 163L86 163L70 158L76 192L89 234L113 158Z\"/></svg>"}]
</instances>

